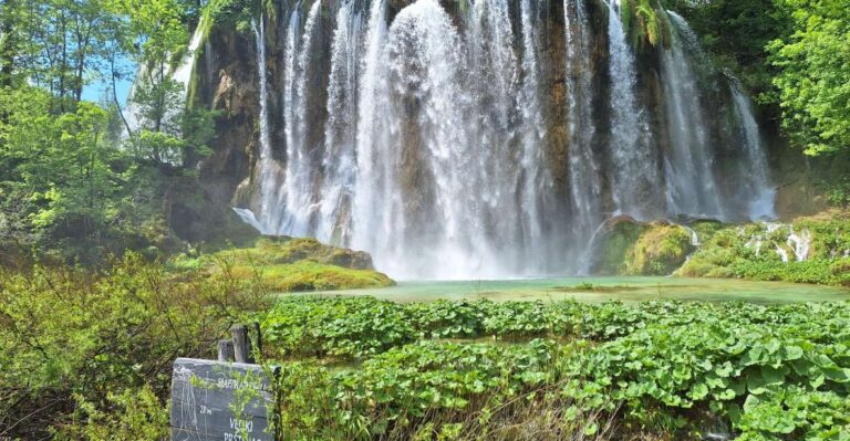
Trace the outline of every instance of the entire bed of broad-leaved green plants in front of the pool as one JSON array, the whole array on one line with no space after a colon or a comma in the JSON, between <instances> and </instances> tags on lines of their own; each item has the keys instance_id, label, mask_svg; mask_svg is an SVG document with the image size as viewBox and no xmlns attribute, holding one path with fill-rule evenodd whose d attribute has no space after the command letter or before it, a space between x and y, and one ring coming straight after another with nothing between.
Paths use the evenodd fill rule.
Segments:
<instances>
[{"instance_id":1,"label":"entire bed of broad-leaved green plants in front of the pool","mask_svg":"<svg viewBox=\"0 0 850 441\"><path fill-rule=\"evenodd\" d=\"M312 327L322 322L332 325ZM740 439L850 434L847 303L307 297L282 300L265 325L280 353L363 358L341 369L323 367L322 358L284 363L281 416L296 439L698 439L713 419ZM439 336L497 340L432 339ZM301 347L312 354L292 351Z\"/></svg>"}]
</instances>

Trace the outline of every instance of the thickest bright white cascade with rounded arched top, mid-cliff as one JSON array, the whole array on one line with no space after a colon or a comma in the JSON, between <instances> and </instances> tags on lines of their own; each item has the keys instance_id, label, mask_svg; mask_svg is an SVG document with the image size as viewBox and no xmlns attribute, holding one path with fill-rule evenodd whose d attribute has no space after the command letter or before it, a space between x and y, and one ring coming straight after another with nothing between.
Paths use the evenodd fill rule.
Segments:
<instances>
[{"instance_id":1,"label":"thickest bright white cascade with rounded arched top, mid-cliff","mask_svg":"<svg viewBox=\"0 0 850 441\"><path fill-rule=\"evenodd\" d=\"M487 189L470 186L479 155L463 125L468 98L460 84L460 36L436 0L418 0L395 17L385 51L384 118L392 132L381 157L395 165L386 199L402 208L384 213L393 219L390 235L402 239L387 243L386 263L408 265L413 259L434 271L426 276L476 274L481 265L476 258L486 255L476 251L487 241L475 213ZM410 246L418 251L411 255ZM440 265L434 265L437 259ZM393 271L408 275L407 267Z\"/></svg>"}]
</instances>

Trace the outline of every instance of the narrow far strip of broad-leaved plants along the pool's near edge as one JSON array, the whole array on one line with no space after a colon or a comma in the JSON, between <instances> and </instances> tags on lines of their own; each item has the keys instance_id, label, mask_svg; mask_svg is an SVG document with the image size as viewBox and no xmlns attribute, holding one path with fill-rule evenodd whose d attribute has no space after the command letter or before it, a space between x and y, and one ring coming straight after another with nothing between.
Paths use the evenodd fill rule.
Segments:
<instances>
[{"instance_id":1,"label":"narrow far strip of broad-leaved plants along the pool's near edge","mask_svg":"<svg viewBox=\"0 0 850 441\"><path fill-rule=\"evenodd\" d=\"M398 304L373 297L287 296L263 314L263 337L277 356L361 358L421 338L514 339L576 334L612 336L634 330L646 315L609 304L436 301ZM569 332L568 332L569 330Z\"/></svg>"}]
</instances>

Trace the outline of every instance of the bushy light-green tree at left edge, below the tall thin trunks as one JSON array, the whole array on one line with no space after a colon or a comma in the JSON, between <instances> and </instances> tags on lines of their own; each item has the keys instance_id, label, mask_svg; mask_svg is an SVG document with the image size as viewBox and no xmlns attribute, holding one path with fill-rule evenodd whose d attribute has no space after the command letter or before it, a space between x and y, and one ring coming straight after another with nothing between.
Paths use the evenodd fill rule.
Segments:
<instances>
[{"instance_id":1,"label":"bushy light-green tree at left edge, below the tall thin trunks","mask_svg":"<svg viewBox=\"0 0 850 441\"><path fill-rule=\"evenodd\" d=\"M111 168L121 155L105 143L108 115L91 103L51 114L53 96L22 86L7 90L0 108L0 218L7 241L35 246L77 238L99 245L114 221L121 177ZM29 243L27 243L29 242Z\"/></svg>"}]
</instances>

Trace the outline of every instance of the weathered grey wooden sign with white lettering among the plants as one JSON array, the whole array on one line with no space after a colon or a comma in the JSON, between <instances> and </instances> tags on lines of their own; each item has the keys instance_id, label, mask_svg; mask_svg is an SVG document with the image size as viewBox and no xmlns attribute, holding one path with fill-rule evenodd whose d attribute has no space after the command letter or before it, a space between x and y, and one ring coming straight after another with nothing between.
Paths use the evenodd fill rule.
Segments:
<instances>
[{"instance_id":1,"label":"weathered grey wooden sign with white lettering among the plants","mask_svg":"<svg viewBox=\"0 0 850 441\"><path fill-rule=\"evenodd\" d=\"M178 358L172 379L172 440L273 441L271 380L258 365Z\"/></svg>"}]
</instances>

